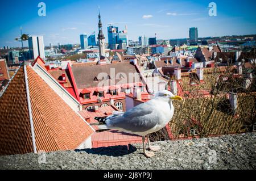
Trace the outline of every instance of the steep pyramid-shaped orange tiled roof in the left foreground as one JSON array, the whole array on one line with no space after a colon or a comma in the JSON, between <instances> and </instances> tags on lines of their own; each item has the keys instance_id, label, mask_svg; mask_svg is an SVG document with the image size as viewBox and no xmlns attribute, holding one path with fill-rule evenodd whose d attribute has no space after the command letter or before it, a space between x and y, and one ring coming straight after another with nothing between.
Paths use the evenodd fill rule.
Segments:
<instances>
[{"instance_id":1,"label":"steep pyramid-shaped orange tiled roof in the left foreground","mask_svg":"<svg viewBox=\"0 0 256 181\"><path fill-rule=\"evenodd\" d=\"M93 129L30 66L26 68L37 151L76 149ZM0 155L32 151L22 66L0 98Z\"/></svg>"}]
</instances>

